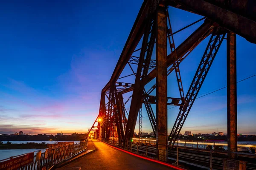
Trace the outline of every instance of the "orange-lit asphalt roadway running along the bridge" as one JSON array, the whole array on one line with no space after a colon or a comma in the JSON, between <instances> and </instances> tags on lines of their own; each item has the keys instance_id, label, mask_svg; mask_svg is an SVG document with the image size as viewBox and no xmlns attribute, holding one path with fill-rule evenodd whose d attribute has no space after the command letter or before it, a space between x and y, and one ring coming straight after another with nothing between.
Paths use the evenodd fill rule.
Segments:
<instances>
[{"instance_id":1,"label":"orange-lit asphalt roadway running along the bridge","mask_svg":"<svg viewBox=\"0 0 256 170\"><path fill-rule=\"evenodd\" d=\"M88 147L92 149L94 145L96 151L82 156L73 162L59 169L80 168L81 170L170 170L161 164L147 161L120 150L112 148L103 142L97 140L89 141Z\"/></svg>"}]
</instances>

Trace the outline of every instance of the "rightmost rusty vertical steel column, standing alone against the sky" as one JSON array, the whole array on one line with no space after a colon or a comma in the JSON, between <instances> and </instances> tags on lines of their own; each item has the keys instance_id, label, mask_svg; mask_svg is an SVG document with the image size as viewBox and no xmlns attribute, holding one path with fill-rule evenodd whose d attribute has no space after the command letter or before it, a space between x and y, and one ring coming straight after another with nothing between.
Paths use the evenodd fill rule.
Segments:
<instances>
[{"instance_id":1,"label":"rightmost rusty vertical steel column, standing alone against the sky","mask_svg":"<svg viewBox=\"0 0 256 170\"><path fill-rule=\"evenodd\" d=\"M227 33L227 148L228 157L236 159L237 103L236 103L236 34Z\"/></svg>"}]
</instances>

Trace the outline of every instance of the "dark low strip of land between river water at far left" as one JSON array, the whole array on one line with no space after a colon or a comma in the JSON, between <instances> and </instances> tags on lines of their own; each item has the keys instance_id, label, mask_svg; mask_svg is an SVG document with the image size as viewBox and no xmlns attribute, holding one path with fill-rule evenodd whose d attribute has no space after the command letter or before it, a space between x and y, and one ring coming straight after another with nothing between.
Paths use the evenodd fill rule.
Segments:
<instances>
[{"instance_id":1,"label":"dark low strip of land between river water at far left","mask_svg":"<svg viewBox=\"0 0 256 170\"><path fill-rule=\"evenodd\" d=\"M22 144L0 144L0 150L6 149L45 149L47 144L41 143L22 143Z\"/></svg>"}]
</instances>

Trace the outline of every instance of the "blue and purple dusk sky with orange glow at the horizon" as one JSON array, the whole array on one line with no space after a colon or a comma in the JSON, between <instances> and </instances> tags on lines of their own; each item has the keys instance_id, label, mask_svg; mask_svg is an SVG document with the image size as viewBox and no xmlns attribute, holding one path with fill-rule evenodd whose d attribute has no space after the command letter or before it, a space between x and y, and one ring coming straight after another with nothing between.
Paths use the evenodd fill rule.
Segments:
<instances>
[{"instance_id":1,"label":"blue and purple dusk sky with orange glow at the horizon","mask_svg":"<svg viewBox=\"0 0 256 170\"><path fill-rule=\"evenodd\" d=\"M111 77L143 0L9 1L0 7L0 133L84 133L99 111L100 92ZM169 8L173 31L201 16ZM175 35L179 45L202 22ZM209 38L180 65L185 92ZM237 37L237 79L255 74L255 44ZM125 68L123 75L130 72ZM224 40L199 94L226 82ZM154 80L153 80L154 81ZM154 82L151 82L154 83ZM256 134L256 78L238 84L238 131ZM168 96L178 97L175 74ZM195 101L182 132L227 132L226 89ZM155 108L155 107L153 107ZM177 108L168 110L169 132ZM143 109L143 131L151 127ZM138 131L138 127L136 130Z\"/></svg>"}]
</instances>

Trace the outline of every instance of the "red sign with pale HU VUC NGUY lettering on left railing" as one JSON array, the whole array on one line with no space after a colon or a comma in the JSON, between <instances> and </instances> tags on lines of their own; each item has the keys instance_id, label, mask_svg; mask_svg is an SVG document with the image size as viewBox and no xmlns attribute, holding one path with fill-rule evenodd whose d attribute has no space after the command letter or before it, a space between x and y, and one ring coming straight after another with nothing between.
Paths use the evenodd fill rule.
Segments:
<instances>
[{"instance_id":1,"label":"red sign with pale HU VUC NGUY lettering on left railing","mask_svg":"<svg viewBox=\"0 0 256 170\"><path fill-rule=\"evenodd\" d=\"M28 153L17 158L13 158L7 161L0 162L0 170L17 170L31 163L34 159L34 153Z\"/></svg>"}]
</instances>

